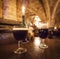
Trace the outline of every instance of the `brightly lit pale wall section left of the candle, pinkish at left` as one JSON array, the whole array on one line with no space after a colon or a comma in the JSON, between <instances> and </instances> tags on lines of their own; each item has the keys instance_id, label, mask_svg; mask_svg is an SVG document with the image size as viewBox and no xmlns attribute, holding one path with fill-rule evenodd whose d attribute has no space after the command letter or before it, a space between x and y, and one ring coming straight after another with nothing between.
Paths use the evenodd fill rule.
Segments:
<instances>
[{"instance_id":1,"label":"brightly lit pale wall section left of the candle, pinkish at left","mask_svg":"<svg viewBox=\"0 0 60 59\"><path fill-rule=\"evenodd\" d=\"M3 0L3 18L17 20L16 0Z\"/></svg>"}]
</instances>

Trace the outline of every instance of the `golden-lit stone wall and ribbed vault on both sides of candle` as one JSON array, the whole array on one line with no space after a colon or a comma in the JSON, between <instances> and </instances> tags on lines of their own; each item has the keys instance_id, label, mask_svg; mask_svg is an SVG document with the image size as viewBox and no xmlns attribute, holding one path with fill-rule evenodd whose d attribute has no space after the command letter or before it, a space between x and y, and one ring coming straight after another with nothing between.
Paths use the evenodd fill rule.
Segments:
<instances>
[{"instance_id":1,"label":"golden-lit stone wall and ribbed vault on both sides of candle","mask_svg":"<svg viewBox=\"0 0 60 59\"><path fill-rule=\"evenodd\" d=\"M25 17L30 21L33 20L32 16L38 15L42 22L48 22L50 26L56 23L58 26L60 23L59 3L60 0L29 0ZM21 6L22 0L0 0L0 18L21 21Z\"/></svg>"}]
</instances>

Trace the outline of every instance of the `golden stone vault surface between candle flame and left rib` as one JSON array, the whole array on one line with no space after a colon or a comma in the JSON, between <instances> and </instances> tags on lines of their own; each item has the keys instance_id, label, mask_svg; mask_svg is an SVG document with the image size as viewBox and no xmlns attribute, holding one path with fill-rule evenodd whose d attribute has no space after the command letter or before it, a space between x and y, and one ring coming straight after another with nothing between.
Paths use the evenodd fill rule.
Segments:
<instances>
[{"instance_id":1,"label":"golden stone vault surface between candle flame and left rib","mask_svg":"<svg viewBox=\"0 0 60 59\"><path fill-rule=\"evenodd\" d=\"M35 14L38 15L42 19L42 21L46 20L45 12L43 9L44 7L42 6L41 1L39 2L39 0L36 0L33 2L32 0L30 2L31 3L29 4L27 10L31 13L31 15L34 16ZM29 14L28 11L27 14Z\"/></svg>"}]
</instances>

